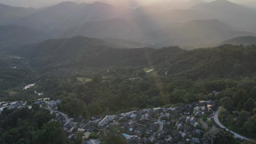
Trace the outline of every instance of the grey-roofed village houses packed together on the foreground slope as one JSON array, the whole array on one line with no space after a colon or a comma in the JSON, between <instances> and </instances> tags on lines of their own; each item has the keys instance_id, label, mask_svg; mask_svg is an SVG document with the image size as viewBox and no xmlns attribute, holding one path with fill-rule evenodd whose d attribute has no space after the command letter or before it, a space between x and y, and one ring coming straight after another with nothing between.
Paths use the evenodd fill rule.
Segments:
<instances>
[{"instance_id":1,"label":"grey-roofed village houses packed together on the foreground slope","mask_svg":"<svg viewBox=\"0 0 256 144\"><path fill-rule=\"evenodd\" d=\"M219 105L219 101L208 100L175 108L147 108L112 116L101 114L91 119L78 117L75 122L66 122L61 114L55 118L63 124L68 138L75 139L77 132L82 132L84 144L99 144L98 134L110 125L123 128L129 144L209 144L199 119L203 114L213 113Z\"/></svg>"}]
</instances>

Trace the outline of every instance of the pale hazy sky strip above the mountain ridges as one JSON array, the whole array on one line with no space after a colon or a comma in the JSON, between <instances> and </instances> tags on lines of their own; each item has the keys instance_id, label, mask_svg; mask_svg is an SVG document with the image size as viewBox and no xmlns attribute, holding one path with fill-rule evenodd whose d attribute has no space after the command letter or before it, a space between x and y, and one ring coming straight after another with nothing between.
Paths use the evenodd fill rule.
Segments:
<instances>
[{"instance_id":1,"label":"pale hazy sky strip above the mountain ridges","mask_svg":"<svg viewBox=\"0 0 256 144\"><path fill-rule=\"evenodd\" d=\"M91 2L96 0L0 0L0 3L7 4L10 6L39 8L44 6L51 6L51 5L60 3L62 1ZM104 0L99 0L99 1L104 1ZM115 1L115 0L112 0L112 1ZM116 1L121 1L121 0L116 0ZM152 1L167 1L167 0L142 0L142 1L152 2ZM186 0L176 0L176 1L186 1ZM213 0L205 0L205 1L213 1ZM229 0L229 1L232 1L238 4L243 4L246 6L256 7L256 0Z\"/></svg>"}]
</instances>

